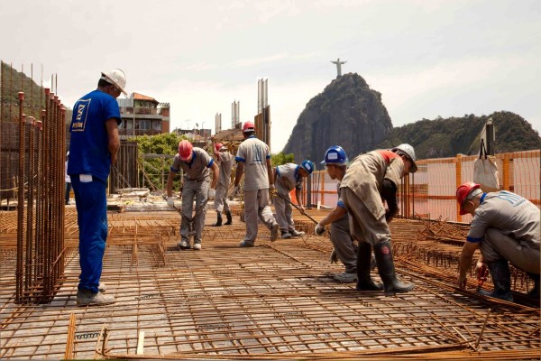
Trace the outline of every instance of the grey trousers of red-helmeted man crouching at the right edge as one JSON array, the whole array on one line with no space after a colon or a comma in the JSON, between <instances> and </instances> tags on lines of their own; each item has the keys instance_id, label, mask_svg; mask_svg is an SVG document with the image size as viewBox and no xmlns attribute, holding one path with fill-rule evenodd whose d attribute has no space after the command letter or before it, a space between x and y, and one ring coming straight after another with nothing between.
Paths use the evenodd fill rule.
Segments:
<instances>
[{"instance_id":1,"label":"grey trousers of red-helmeted man crouching at the right edge","mask_svg":"<svg viewBox=\"0 0 541 361\"><path fill-rule=\"evenodd\" d=\"M505 258L521 270L539 274L539 249L504 235L498 228L487 228L480 249L484 262Z\"/></svg>"}]
</instances>

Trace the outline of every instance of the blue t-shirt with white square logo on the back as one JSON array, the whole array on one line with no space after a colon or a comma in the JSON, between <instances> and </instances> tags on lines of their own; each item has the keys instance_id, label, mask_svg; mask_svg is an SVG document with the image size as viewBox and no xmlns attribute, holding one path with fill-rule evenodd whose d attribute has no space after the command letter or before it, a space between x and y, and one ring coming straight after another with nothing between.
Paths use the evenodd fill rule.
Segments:
<instances>
[{"instance_id":1,"label":"blue t-shirt with white square logo on the back","mask_svg":"<svg viewBox=\"0 0 541 361\"><path fill-rule=\"evenodd\" d=\"M120 125L122 119L115 97L94 90L81 97L73 106L69 132L68 174L91 174L107 180L111 169L109 135L105 122L115 118Z\"/></svg>"}]
</instances>

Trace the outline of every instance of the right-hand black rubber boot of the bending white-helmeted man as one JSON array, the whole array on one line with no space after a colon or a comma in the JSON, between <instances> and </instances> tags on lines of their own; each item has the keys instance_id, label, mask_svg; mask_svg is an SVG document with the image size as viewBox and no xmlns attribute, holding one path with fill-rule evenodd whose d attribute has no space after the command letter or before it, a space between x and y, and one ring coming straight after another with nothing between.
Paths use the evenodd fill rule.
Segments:
<instances>
[{"instance_id":1,"label":"right-hand black rubber boot of the bending white-helmeted man","mask_svg":"<svg viewBox=\"0 0 541 361\"><path fill-rule=\"evenodd\" d=\"M374 255L376 256L378 273L380 273L381 281L383 281L386 296L392 296L396 292L403 293L413 290L415 284L401 282L397 277L397 273L395 273L390 241L374 245Z\"/></svg>"}]
</instances>

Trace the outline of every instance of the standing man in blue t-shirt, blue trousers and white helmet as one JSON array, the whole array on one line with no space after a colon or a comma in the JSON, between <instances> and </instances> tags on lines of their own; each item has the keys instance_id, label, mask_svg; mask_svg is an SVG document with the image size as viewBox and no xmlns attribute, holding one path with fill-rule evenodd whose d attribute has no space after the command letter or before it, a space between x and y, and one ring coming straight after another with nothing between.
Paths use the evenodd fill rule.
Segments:
<instances>
[{"instance_id":1,"label":"standing man in blue t-shirt, blue trousers and white helmet","mask_svg":"<svg viewBox=\"0 0 541 361\"><path fill-rule=\"evenodd\" d=\"M111 164L120 148L118 125L122 123L116 98L126 78L121 69L101 73L97 88L73 106L69 132L68 174L75 193L79 231L79 275L77 304L91 306L115 302L105 295L100 282L107 240L105 189Z\"/></svg>"}]
</instances>

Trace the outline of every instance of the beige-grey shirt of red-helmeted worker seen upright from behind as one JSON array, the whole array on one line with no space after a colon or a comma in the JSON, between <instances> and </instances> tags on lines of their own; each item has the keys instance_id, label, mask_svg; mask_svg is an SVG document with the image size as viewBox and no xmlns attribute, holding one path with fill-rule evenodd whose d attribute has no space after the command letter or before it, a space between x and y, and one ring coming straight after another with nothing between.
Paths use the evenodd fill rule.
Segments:
<instances>
[{"instance_id":1,"label":"beige-grey shirt of red-helmeted worker seen upright from behind","mask_svg":"<svg viewBox=\"0 0 541 361\"><path fill-rule=\"evenodd\" d=\"M234 160L244 163L244 190L269 188L267 159L270 158L269 146L255 136L251 136L241 143Z\"/></svg>"}]
</instances>

